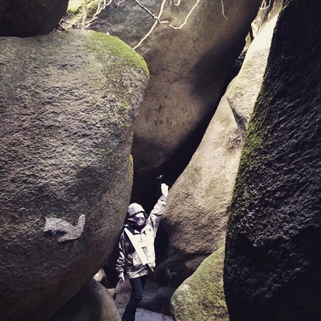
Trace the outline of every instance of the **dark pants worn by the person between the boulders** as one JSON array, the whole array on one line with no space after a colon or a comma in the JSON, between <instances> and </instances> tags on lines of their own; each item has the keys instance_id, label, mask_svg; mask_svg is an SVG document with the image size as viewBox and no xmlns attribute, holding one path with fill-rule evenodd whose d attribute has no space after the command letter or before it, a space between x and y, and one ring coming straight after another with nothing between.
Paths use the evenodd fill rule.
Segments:
<instances>
[{"instance_id":1,"label":"dark pants worn by the person between the boulders","mask_svg":"<svg viewBox=\"0 0 321 321\"><path fill-rule=\"evenodd\" d=\"M138 303L142 299L142 290L145 286L147 275L129 279L131 285L131 296L125 308L121 321L134 321Z\"/></svg>"}]
</instances>

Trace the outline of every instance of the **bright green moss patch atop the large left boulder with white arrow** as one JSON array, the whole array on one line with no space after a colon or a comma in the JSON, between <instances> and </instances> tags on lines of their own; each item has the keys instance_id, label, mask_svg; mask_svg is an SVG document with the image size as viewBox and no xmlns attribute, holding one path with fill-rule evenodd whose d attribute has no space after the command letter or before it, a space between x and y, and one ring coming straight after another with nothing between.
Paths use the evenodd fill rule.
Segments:
<instances>
[{"instance_id":1,"label":"bright green moss patch atop the large left boulder with white arrow","mask_svg":"<svg viewBox=\"0 0 321 321\"><path fill-rule=\"evenodd\" d=\"M117 37L92 31L86 47L87 50L94 52L97 55L104 55L106 51L109 51L122 63L134 68L142 69L149 77L149 71L144 59Z\"/></svg>"}]
</instances>

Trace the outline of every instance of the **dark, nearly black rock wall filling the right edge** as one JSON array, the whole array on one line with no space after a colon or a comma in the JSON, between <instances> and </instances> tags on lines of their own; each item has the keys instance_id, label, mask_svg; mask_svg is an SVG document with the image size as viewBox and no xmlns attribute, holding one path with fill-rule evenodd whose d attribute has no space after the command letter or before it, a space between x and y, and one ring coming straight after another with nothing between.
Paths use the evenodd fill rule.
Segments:
<instances>
[{"instance_id":1,"label":"dark, nearly black rock wall filling the right edge","mask_svg":"<svg viewBox=\"0 0 321 321\"><path fill-rule=\"evenodd\" d=\"M320 10L286 0L274 30L226 238L232 321L321 318Z\"/></svg>"}]
</instances>

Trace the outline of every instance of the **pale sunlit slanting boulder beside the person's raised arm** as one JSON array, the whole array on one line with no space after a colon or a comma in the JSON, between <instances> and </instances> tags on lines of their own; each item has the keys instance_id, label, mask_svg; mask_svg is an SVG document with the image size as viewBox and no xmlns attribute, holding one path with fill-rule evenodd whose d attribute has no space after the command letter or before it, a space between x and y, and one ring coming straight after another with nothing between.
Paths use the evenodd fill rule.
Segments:
<instances>
[{"instance_id":1,"label":"pale sunlit slanting boulder beside the person's raised arm","mask_svg":"<svg viewBox=\"0 0 321 321\"><path fill-rule=\"evenodd\" d=\"M164 267L179 270L180 281L225 239L244 132L262 84L275 22L276 17L251 44L199 148L170 190L163 222L173 250Z\"/></svg>"}]
</instances>

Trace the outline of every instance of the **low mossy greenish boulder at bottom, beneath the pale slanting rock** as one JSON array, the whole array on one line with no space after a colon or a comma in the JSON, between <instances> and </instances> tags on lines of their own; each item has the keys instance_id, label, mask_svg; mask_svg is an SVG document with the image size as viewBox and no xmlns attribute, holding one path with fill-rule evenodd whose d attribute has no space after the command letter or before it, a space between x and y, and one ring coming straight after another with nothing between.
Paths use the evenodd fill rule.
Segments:
<instances>
[{"instance_id":1,"label":"low mossy greenish boulder at bottom, beneath the pale slanting rock","mask_svg":"<svg viewBox=\"0 0 321 321\"><path fill-rule=\"evenodd\" d=\"M176 290L171 299L174 320L229 320L223 291L223 261L221 246Z\"/></svg>"}]
</instances>

